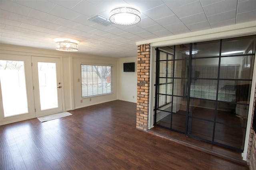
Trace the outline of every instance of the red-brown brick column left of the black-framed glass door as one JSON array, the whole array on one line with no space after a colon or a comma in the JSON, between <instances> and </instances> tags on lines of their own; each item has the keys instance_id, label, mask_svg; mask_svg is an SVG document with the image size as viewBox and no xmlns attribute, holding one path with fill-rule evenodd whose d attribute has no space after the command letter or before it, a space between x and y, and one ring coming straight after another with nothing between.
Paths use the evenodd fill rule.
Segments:
<instances>
[{"instance_id":1,"label":"red-brown brick column left of the black-framed glass door","mask_svg":"<svg viewBox=\"0 0 256 170\"><path fill-rule=\"evenodd\" d=\"M137 115L136 128L148 129L149 112L149 78L150 78L150 45L138 46L138 74L137 74Z\"/></svg>"}]
</instances>

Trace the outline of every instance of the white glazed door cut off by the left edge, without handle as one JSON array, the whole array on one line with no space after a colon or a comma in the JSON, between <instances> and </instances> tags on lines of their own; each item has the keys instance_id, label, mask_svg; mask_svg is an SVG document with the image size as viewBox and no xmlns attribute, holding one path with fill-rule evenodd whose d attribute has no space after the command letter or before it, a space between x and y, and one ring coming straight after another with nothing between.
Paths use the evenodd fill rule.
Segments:
<instances>
[{"instance_id":1,"label":"white glazed door cut off by the left edge, without handle","mask_svg":"<svg viewBox=\"0 0 256 170\"><path fill-rule=\"evenodd\" d=\"M31 56L1 54L0 125L35 117Z\"/></svg>"}]
</instances>

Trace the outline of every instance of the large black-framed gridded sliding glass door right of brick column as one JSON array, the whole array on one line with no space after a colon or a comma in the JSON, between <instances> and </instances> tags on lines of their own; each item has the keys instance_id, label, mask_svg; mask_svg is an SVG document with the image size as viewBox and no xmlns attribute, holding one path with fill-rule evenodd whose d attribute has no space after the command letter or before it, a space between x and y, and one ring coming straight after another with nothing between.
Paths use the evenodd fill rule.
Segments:
<instances>
[{"instance_id":1,"label":"large black-framed gridded sliding glass door right of brick column","mask_svg":"<svg viewBox=\"0 0 256 170\"><path fill-rule=\"evenodd\" d=\"M154 125L242 152L255 46L248 36L159 47Z\"/></svg>"}]
</instances>

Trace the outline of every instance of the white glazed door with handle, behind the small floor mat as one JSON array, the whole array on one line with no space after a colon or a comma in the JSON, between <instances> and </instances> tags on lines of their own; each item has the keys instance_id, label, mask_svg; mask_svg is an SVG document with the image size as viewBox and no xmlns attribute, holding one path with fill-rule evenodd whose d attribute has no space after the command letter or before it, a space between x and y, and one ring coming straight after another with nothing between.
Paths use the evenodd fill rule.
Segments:
<instances>
[{"instance_id":1,"label":"white glazed door with handle, behind the small floor mat","mask_svg":"<svg viewBox=\"0 0 256 170\"><path fill-rule=\"evenodd\" d=\"M32 56L32 72L36 117L63 111L60 59Z\"/></svg>"}]
</instances>

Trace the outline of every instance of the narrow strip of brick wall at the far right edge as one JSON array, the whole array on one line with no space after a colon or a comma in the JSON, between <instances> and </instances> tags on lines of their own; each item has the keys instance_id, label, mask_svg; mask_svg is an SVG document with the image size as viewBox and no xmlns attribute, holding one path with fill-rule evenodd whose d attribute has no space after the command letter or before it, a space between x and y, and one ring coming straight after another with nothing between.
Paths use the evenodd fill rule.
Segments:
<instances>
[{"instance_id":1,"label":"narrow strip of brick wall at the far right edge","mask_svg":"<svg viewBox=\"0 0 256 170\"><path fill-rule=\"evenodd\" d=\"M253 111L252 111L252 118L254 117L254 110L256 103L256 92L254 94L254 104L253 104ZM251 170L256 170L256 133L254 132L254 129L252 128L251 124L251 130L250 130L250 139L249 139L249 148L247 153L247 162L250 165Z\"/></svg>"}]
</instances>

